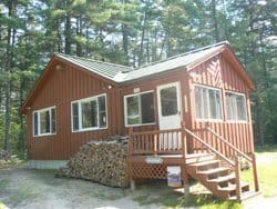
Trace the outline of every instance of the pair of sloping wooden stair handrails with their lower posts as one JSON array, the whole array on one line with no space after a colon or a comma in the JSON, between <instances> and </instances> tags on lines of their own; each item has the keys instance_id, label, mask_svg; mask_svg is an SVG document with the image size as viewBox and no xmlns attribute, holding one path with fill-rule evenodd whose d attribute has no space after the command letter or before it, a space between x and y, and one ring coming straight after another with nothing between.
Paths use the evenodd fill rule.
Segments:
<instances>
[{"instance_id":1,"label":"pair of sloping wooden stair handrails with their lower posts","mask_svg":"<svg viewBox=\"0 0 277 209\"><path fill-rule=\"evenodd\" d=\"M256 167L256 156L255 153L252 153L252 158L249 158L247 155L242 152L238 148L236 148L234 145L229 143L226 139L224 139L222 136L219 136L217 132L215 132L212 128L206 127L206 130L216 136L216 139L219 139L226 147L232 149L235 155L235 161L228 159L223 153L220 153L216 148L201 139L198 136L189 131L188 129L184 129L186 133L188 133L193 139L196 139L202 146L208 148L212 152L217 155L220 159L226 161L228 165L230 165L235 170L235 177L236 177L236 196L239 200L242 198L242 187L240 187L240 159L239 157L245 158L253 165L253 175L254 175L254 185L255 185L255 191L259 191L259 185L258 185L258 175L257 175L257 167Z\"/></svg>"}]
</instances>

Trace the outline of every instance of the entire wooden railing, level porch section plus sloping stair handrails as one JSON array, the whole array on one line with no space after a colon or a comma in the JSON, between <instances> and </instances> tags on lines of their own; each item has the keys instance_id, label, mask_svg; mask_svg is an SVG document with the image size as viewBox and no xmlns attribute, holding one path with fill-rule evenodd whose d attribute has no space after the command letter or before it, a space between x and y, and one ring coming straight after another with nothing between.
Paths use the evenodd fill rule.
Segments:
<instances>
[{"instance_id":1,"label":"entire wooden railing, level porch section plus sloping stair handrails","mask_svg":"<svg viewBox=\"0 0 277 209\"><path fill-rule=\"evenodd\" d=\"M205 131L211 132L215 136L218 142L222 142L225 146L225 150L230 149L235 153L235 160L227 158L222 153L217 147L207 143L201 137L198 137L193 131L185 128L182 123L179 129L168 129L168 130L153 130L153 131L143 131L143 132L133 132L133 129L130 129L130 141L129 141L129 156L146 156L146 155L187 155L186 140L189 138L196 140L202 147L207 148L208 151L214 152L223 161L227 162L235 170L236 176L236 196L237 199L242 197L242 187L240 187L240 158L245 158L253 165L253 175L254 175L254 185L255 190L259 191L257 167L256 167L256 156L252 153L250 157L242 152L237 147L228 142L225 138L218 135L215 130L208 126L205 128ZM189 137L188 137L189 136Z\"/></svg>"}]
</instances>

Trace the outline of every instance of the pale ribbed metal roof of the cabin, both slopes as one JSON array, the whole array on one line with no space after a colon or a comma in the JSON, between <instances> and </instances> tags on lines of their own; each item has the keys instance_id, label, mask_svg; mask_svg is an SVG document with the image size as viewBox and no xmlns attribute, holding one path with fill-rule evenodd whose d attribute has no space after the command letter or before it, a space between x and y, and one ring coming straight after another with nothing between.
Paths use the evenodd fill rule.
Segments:
<instances>
[{"instance_id":1,"label":"pale ribbed metal roof of the cabin, both slopes","mask_svg":"<svg viewBox=\"0 0 277 209\"><path fill-rule=\"evenodd\" d=\"M188 51L186 53L175 56L168 58L166 60L162 60L158 62L150 63L146 66L142 66L137 69L133 69L131 67L114 64L109 62L96 61L86 58L79 58L74 56L61 54L58 53L55 56L65 59L70 62L73 62L78 66L81 66L92 72L101 74L107 79L111 79L115 82L127 82L135 79L140 79L143 77L171 71L174 69L178 69L181 67L189 68L195 63L208 58L212 54L224 49L224 46L229 44L228 42L219 42L213 46L208 46L205 48L201 48L197 50Z\"/></svg>"}]
</instances>

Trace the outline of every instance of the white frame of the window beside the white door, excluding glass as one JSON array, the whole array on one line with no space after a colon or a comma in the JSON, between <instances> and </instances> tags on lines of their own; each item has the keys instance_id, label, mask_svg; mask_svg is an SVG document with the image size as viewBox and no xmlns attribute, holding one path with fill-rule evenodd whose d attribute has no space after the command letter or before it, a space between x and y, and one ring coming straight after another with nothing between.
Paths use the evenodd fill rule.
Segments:
<instances>
[{"instance_id":1,"label":"white frame of the window beside the white door, excluding glass","mask_svg":"<svg viewBox=\"0 0 277 209\"><path fill-rule=\"evenodd\" d=\"M136 123L136 125L129 125L127 123L127 98L131 97L135 97L135 96L141 96L144 93L153 93L153 99L155 99L155 92L154 90L150 90L150 91L142 91L142 92L137 92L137 93L132 93L132 94L126 94L124 96L124 123L125 127L142 127L142 126L148 126L148 125L155 125L155 110L154 110L154 122L148 122L148 123ZM153 101L153 104L155 106L155 101ZM154 108L155 109L155 108ZM140 113L140 119L142 119L142 107L141 107L141 97L138 97L138 113Z\"/></svg>"}]
</instances>

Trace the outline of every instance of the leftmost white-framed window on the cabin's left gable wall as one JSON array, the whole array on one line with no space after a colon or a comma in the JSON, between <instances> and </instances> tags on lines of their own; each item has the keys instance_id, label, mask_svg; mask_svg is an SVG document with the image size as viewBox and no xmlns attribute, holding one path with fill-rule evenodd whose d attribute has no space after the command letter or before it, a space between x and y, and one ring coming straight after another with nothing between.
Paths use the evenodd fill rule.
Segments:
<instances>
[{"instance_id":1,"label":"leftmost white-framed window on the cabin's left gable wall","mask_svg":"<svg viewBox=\"0 0 277 209\"><path fill-rule=\"evenodd\" d=\"M33 112L33 136L48 136L55 133L55 107Z\"/></svg>"}]
</instances>

